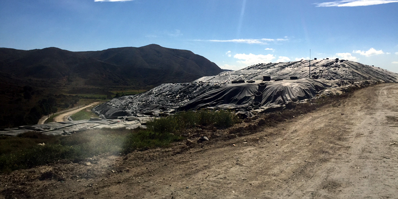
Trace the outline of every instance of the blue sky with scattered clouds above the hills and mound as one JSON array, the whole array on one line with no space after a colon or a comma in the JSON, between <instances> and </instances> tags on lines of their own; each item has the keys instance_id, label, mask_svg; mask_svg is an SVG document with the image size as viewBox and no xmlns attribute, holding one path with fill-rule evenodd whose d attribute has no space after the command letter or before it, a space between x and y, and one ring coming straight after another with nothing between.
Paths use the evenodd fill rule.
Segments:
<instances>
[{"instance_id":1,"label":"blue sky with scattered clouds above the hills and mound","mask_svg":"<svg viewBox=\"0 0 398 199\"><path fill-rule=\"evenodd\" d=\"M340 58L398 73L398 0L1 0L0 47L159 44L224 69Z\"/></svg>"}]
</instances>

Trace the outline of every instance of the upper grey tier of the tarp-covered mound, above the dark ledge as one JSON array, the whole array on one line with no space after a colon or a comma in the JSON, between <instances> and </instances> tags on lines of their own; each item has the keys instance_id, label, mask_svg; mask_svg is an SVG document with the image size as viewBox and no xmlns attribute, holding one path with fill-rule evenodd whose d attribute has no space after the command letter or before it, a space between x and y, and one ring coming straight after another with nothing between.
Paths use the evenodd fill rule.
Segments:
<instances>
[{"instance_id":1,"label":"upper grey tier of the tarp-covered mound, above the dark ledge","mask_svg":"<svg viewBox=\"0 0 398 199\"><path fill-rule=\"evenodd\" d=\"M373 80L386 83L398 82L398 74L347 60L311 60L311 79L324 80ZM223 72L216 76L199 78L194 82L227 84L239 80L263 80L270 76L272 80L286 80L290 77L308 78L309 60L256 64L237 71Z\"/></svg>"}]
</instances>

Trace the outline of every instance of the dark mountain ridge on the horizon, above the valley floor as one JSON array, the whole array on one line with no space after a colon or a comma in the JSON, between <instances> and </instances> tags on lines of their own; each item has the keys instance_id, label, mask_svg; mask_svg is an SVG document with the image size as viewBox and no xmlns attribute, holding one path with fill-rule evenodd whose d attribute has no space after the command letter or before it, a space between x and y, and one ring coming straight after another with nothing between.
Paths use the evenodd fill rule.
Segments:
<instances>
[{"instance_id":1,"label":"dark mountain ridge on the horizon, above the valley floor","mask_svg":"<svg viewBox=\"0 0 398 199\"><path fill-rule=\"evenodd\" d=\"M191 82L222 72L216 64L188 50L151 44L102 51L71 52L59 48L0 48L0 72L26 79L78 86L157 86Z\"/></svg>"}]
</instances>

